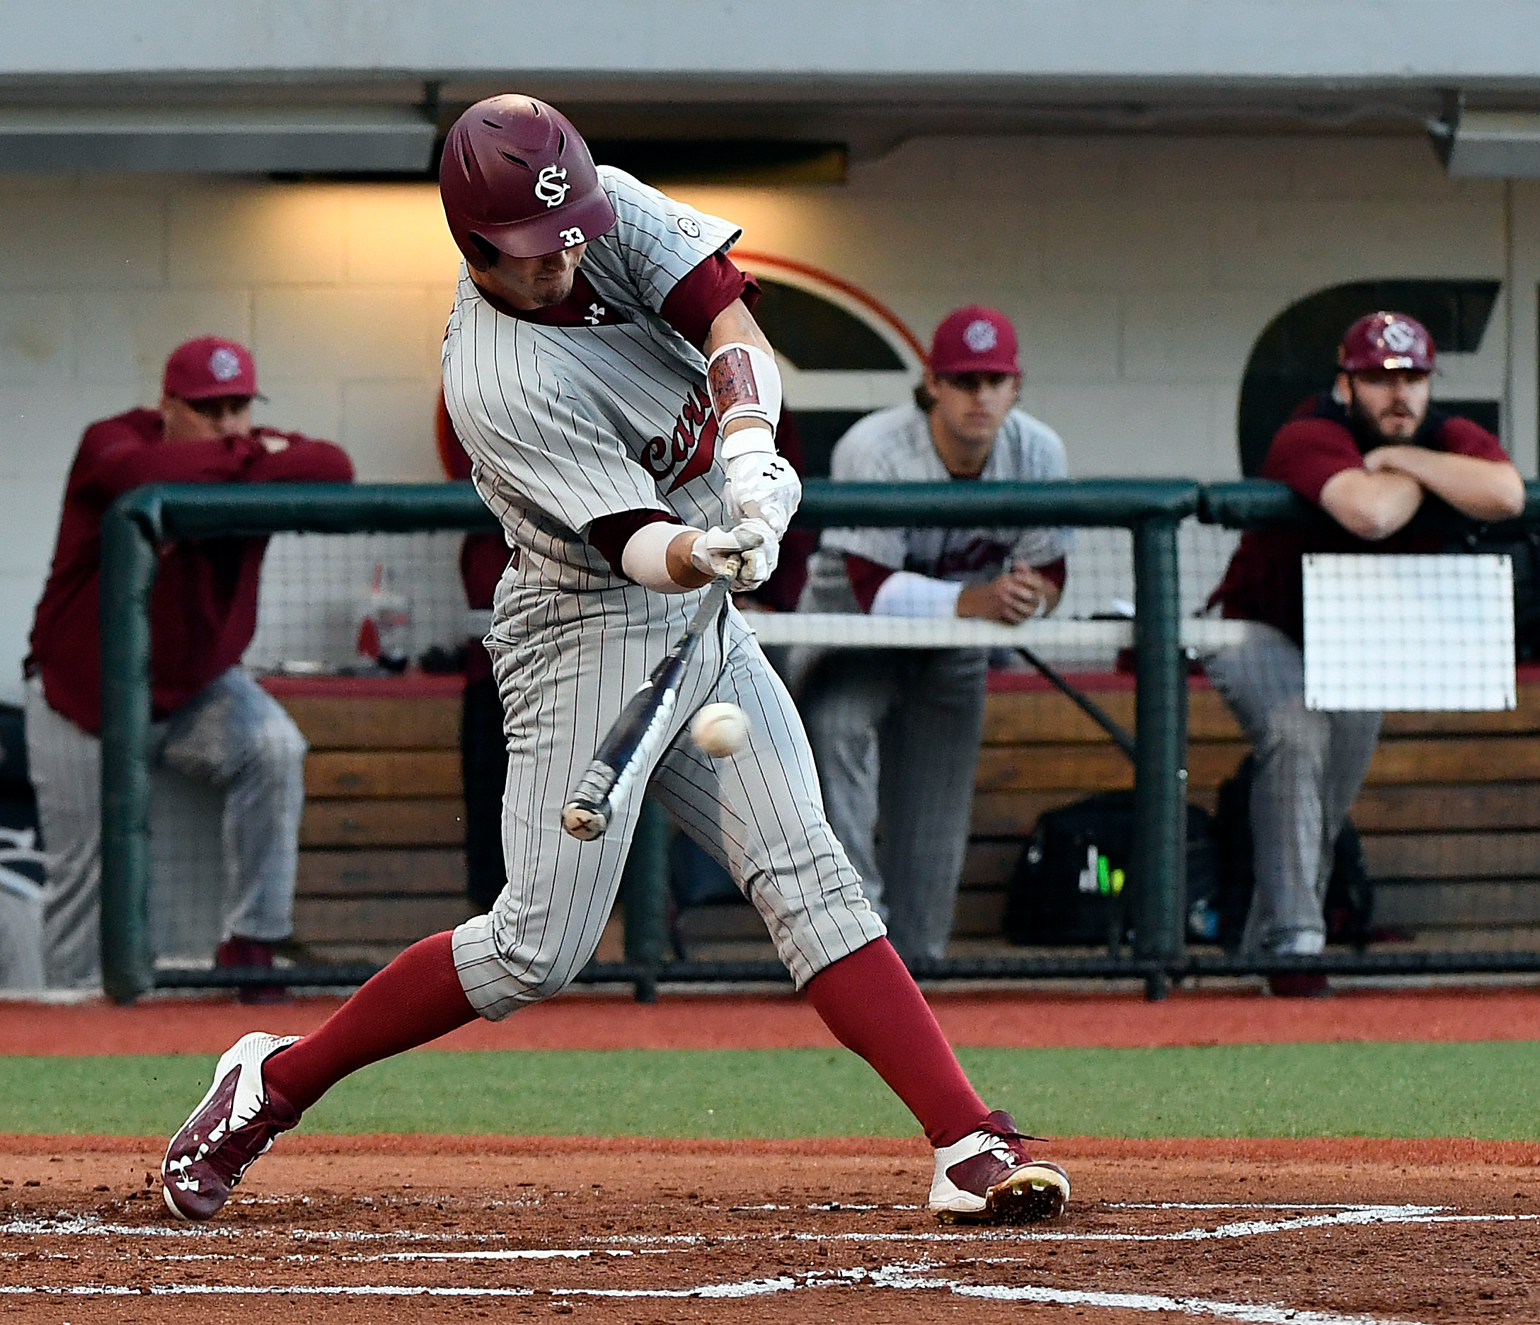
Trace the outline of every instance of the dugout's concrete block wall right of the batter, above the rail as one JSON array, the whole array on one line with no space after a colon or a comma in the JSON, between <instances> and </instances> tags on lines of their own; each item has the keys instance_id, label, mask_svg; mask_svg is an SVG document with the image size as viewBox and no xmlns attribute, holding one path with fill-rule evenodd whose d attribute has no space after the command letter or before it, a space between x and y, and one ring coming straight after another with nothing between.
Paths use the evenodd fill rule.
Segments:
<instances>
[{"instance_id":1,"label":"dugout's concrete block wall right of the batter, above the rail","mask_svg":"<svg viewBox=\"0 0 1540 1325\"><path fill-rule=\"evenodd\" d=\"M959 304L1004 310L1026 407L1080 475L1234 478L1241 373L1289 304L1348 280L1503 279L1525 257L1505 185L1451 180L1420 139L916 139L839 190L681 193L745 247L875 293L922 340ZM1534 280L1518 293L1532 327ZM1437 390L1500 398L1506 328L1498 308ZM1532 411L1515 424L1532 473Z\"/></svg>"}]
</instances>

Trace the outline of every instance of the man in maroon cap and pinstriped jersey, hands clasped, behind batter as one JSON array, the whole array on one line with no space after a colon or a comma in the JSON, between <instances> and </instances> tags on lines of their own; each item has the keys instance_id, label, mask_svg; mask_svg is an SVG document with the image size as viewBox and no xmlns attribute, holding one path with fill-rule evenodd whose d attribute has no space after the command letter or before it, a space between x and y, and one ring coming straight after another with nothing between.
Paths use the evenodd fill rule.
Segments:
<instances>
[{"instance_id":1,"label":"man in maroon cap and pinstriped jersey, hands clasped, behind batter","mask_svg":"<svg viewBox=\"0 0 1540 1325\"><path fill-rule=\"evenodd\" d=\"M915 404L850 428L832 478L1067 478L1064 444L1015 407L1019 390L1009 319L959 308L936 327ZM1067 547L1058 528L830 528L799 609L1013 624L1053 610ZM839 649L795 661L829 821L910 963L944 957L952 935L987 666L979 649Z\"/></svg>"}]
</instances>

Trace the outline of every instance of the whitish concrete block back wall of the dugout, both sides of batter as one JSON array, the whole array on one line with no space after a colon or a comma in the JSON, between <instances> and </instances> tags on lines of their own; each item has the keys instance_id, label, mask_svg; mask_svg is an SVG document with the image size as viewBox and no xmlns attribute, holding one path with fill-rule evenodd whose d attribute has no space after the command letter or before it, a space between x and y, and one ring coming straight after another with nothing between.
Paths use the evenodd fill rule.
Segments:
<instances>
[{"instance_id":1,"label":"whitish concrete block back wall of the dugout, both sides of batter","mask_svg":"<svg viewBox=\"0 0 1540 1325\"><path fill-rule=\"evenodd\" d=\"M1535 471L1540 190L1449 180L1418 139L916 139L842 188L676 193L742 223L745 248L853 282L921 339L958 304L1001 307L1023 333L1024 402L1086 476L1235 476L1241 371L1295 299L1371 277L1500 279L1512 299L1437 393L1506 391L1511 445ZM248 342L271 398L259 419L342 442L362 479L439 478L456 259L428 185L8 177L0 698L17 690L82 428L154 404L179 340Z\"/></svg>"}]
</instances>

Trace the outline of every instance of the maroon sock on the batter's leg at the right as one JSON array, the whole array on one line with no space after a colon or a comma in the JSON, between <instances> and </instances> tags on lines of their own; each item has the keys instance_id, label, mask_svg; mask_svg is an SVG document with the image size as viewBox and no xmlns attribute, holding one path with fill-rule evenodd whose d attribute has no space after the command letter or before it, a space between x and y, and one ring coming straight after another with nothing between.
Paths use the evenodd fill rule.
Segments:
<instances>
[{"instance_id":1,"label":"maroon sock on the batter's leg at the right","mask_svg":"<svg viewBox=\"0 0 1540 1325\"><path fill-rule=\"evenodd\" d=\"M909 1105L930 1145L949 1146L978 1129L989 1109L886 938L825 966L805 992L839 1043Z\"/></svg>"}]
</instances>

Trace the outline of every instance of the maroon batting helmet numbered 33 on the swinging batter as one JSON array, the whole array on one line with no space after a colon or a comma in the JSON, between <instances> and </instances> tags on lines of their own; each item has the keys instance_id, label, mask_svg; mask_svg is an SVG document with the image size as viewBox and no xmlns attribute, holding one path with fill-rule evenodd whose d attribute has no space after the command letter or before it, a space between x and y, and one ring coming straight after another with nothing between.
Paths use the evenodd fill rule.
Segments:
<instances>
[{"instance_id":1,"label":"maroon batting helmet numbered 33 on the swinging batter","mask_svg":"<svg viewBox=\"0 0 1540 1325\"><path fill-rule=\"evenodd\" d=\"M465 260L485 271L497 253L541 257L614 225L582 134L533 97L488 97L444 140L439 197Z\"/></svg>"}]
</instances>

